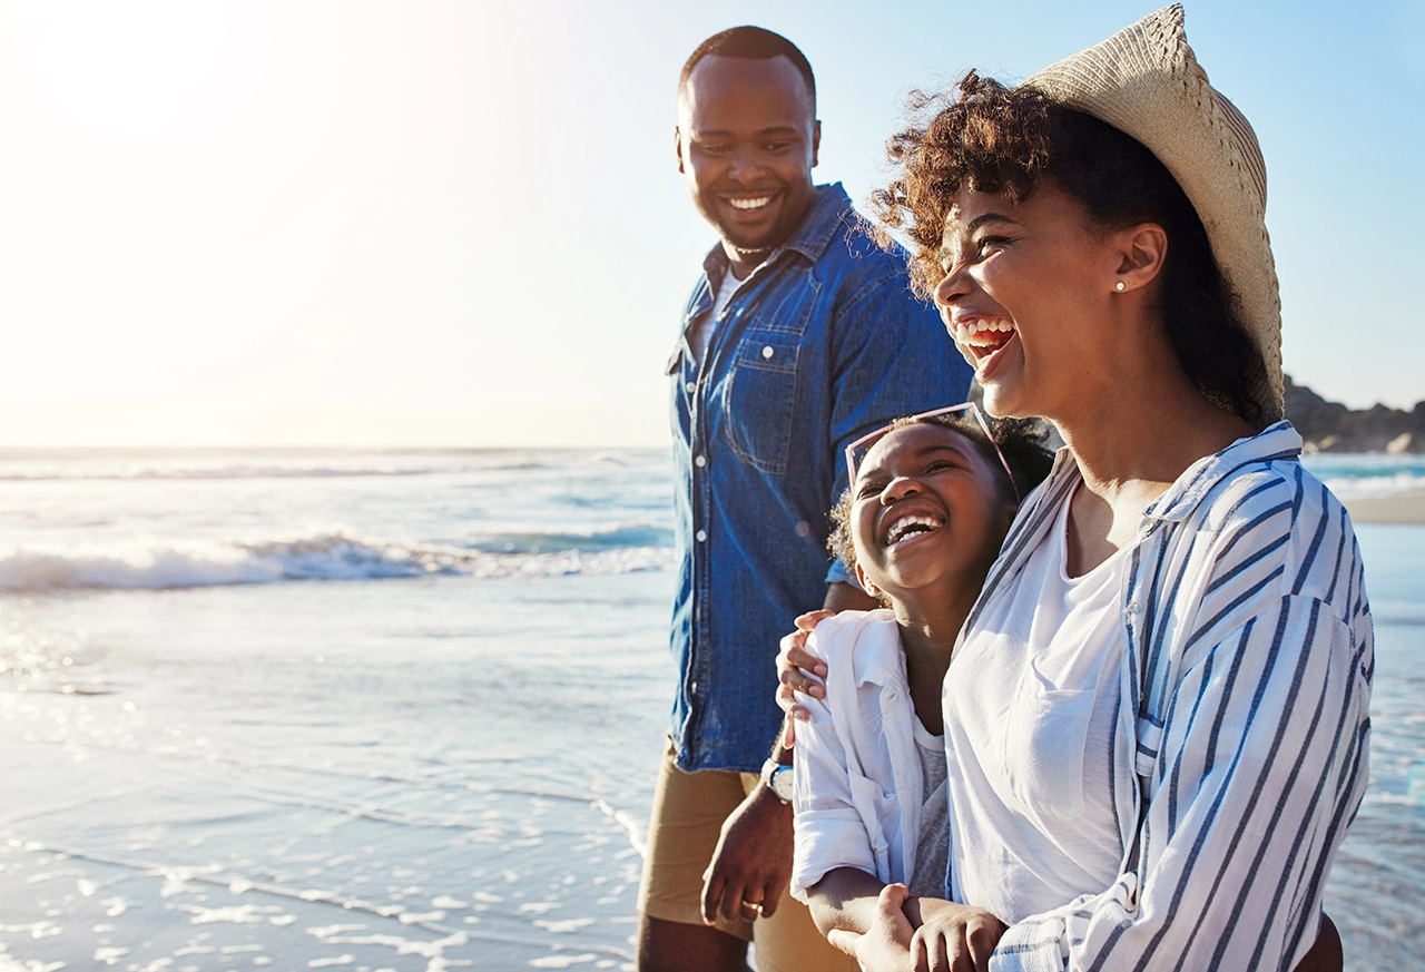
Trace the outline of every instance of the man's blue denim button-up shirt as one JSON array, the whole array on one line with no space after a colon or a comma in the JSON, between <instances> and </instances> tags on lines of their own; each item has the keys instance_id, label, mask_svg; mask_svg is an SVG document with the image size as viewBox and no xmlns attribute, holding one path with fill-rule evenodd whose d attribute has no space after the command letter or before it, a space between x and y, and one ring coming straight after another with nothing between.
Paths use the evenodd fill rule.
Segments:
<instances>
[{"instance_id":1,"label":"man's blue denim button-up shirt","mask_svg":"<svg viewBox=\"0 0 1425 972\"><path fill-rule=\"evenodd\" d=\"M732 295L700 366L690 331L727 272L717 247L668 359L678 581L673 741L683 770L761 767L781 711L777 643L846 580L826 552L842 450L963 400L970 369L905 258L856 228L841 185Z\"/></svg>"}]
</instances>

